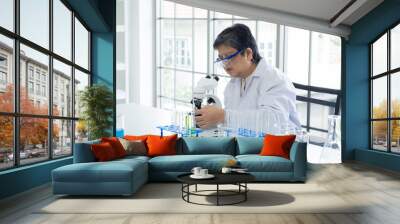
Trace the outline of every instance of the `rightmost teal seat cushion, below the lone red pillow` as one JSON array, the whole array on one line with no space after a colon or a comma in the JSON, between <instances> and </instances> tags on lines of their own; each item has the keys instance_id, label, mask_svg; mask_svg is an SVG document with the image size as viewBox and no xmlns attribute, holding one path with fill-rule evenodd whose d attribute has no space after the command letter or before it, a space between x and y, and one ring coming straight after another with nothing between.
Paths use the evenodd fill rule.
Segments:
<instances>
[{"instance_id":1,"label":"rightmost teal seat cushion, below the lone red pillow","mask_svg":"<svg viewBox=\"0 0 400 224\"><path fill-rule=\"evenodd\" d=\"M239 155L240 167L249 172L292 172L292 161L279 156Z\"/></svg>"}]
</instances>

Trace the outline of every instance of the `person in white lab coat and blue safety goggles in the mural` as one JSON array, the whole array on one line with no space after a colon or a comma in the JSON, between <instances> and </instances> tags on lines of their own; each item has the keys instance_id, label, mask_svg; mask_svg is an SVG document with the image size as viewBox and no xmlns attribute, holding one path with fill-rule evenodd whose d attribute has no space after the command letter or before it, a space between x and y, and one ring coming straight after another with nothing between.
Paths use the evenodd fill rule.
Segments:
<instances>
[{"instance_id":1,"label":"person in white lab coat and blue safety goggles in the mural","mask_svg":"<svg viewBox=\"0 0 400 224\"><path fill-rule=\"evenodd\" d=\"M260 56L247 26L234 24L226 28L218 35L213 47L218 51L215 63L225 69L231 80L224 92L225 109L206 106L196 111L196 124L200 128L217 124L233 127L232 122L252 123L243 125L254 128L271 117L275 122L300 127L292 82Z\"/></svg>"}]
</instances>

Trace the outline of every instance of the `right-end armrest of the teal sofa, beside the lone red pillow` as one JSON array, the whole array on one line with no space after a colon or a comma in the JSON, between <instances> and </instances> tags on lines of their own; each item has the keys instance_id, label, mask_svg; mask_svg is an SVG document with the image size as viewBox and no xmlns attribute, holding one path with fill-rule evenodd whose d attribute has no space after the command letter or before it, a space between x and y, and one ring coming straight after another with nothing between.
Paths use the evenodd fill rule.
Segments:
<instances>
[{"instance_id":1,"label":"right-end armrest of the teal sofa, beside the lone red pillow","mask_svg":"<svg viewBox=\"0 0 400 224\"><path fill-rule=\"evenodd\" d=\"M307 176L307 143L294 142L290 149L290 160L293 162L293 179L305 181Z\"/></svg>"}]
</instances>

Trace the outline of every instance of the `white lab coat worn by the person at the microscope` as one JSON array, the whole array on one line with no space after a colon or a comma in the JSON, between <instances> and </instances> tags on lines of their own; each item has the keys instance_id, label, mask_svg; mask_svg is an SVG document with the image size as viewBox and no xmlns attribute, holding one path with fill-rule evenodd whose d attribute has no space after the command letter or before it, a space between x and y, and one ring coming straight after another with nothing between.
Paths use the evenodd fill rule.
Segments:
<instances>
[{"instance_id":1,"label":"white lab coat worn by the person at the microscope","mask_svg":"<svg viewBox=\"0 0 400 224\"><path fill-rule=\"evenodd\" d=\"M278 132L282 125L301 126L293 83L284 73L268 65L265 59L261 59L254 72L246 78L242 94L241 78L231 78L225 88L224 104L227 127L273 133Z\"/></svg>"}]
</instances>

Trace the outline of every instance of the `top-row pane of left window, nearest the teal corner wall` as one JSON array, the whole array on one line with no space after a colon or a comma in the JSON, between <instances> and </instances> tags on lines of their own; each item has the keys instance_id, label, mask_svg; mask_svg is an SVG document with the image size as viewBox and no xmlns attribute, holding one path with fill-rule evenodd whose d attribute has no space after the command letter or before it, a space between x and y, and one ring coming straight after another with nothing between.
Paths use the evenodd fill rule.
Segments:
<instances>
[{"instance_id":1,"label":"top-row pane of left window, nearest the teal corner wall","mask_svg":"<svg viewBox=\"0 0 400 224\"><path fill-rule=\"evenodd\" d=\"M89 69L89 32L75 18L75 63Z\"/></svg>"}]
</instances>

